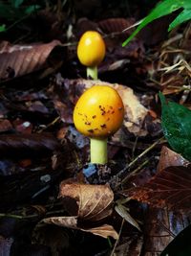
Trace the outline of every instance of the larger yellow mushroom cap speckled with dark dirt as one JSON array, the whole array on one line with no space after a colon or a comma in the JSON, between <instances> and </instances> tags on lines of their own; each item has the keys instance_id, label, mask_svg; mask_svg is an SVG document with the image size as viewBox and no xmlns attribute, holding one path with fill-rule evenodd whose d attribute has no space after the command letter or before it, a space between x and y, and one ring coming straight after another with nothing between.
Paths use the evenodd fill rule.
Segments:
<instances>
[{"instance_id":1,"label":"larger yellow mushroom cap speckled with dark dirt","mask_svg":"<svg viewBox=\"0 0 191 256\"><path fill-rule=\"evenodd\" d=\"M106 138L120 128L124 105L117 90L108 85L94 85L86 90L74 107L74 126L82 134Z\"/></svg>"}]
</instances>

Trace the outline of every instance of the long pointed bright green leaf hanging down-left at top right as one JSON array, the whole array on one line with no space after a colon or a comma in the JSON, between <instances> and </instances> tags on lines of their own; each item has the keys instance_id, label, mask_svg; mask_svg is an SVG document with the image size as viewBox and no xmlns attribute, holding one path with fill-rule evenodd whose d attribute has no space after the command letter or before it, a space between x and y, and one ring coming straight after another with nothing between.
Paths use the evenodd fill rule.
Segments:
<instances>
[{"instance_id":1,"label":"long pointed bright green leaf hanging down-left at top right","mask_svg":"<svg viewBox=\"0 0 191 256\"><path fill-rule=\"evenodd\" d=\"M161 16L167 15L171 12L175 12L179 10L183 6L183 3L184 1L180 1L180 0L164 0L160 2L156 6L156 8L142 20L142 22L139 24L136 31L122 43L122 46L125 46L126 44L128 44L133 39L133 37L135 37L138 34L138 32L141 29L143 29L146 25L151 23L153 20Z\"/></svg>"}]
</instances>

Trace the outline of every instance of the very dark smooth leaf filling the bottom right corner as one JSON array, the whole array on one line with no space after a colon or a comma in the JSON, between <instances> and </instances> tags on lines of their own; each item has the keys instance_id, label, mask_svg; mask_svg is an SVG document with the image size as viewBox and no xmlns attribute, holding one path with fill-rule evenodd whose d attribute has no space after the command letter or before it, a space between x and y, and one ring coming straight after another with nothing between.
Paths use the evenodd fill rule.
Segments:
<instances>
[{"instance_id":1,"label":"very dark smooth leaf filling the bottom right corner","mask_svg":"<svg viewBox=\"0 0 191 256\"><path fill-rule=\"evenodd\" d=\"M184 228L179 235L167 245L160 256L189 256L191 255L191 225Z\"/></svg>"}]
</instances>

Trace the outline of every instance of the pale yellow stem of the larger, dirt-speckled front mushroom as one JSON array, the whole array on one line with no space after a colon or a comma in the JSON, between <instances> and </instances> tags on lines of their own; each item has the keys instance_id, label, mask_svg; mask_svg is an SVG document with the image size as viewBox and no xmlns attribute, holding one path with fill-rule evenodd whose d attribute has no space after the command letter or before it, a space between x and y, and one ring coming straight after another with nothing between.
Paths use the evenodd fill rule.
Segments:
<instances>
[{"instance_id":1,"label":"pale yellow stem of the larger, dirt-speckled front mushroom","mask_svg":"<svg viewBox=\"0 0 191 256\"><path fill-rule=\"evenodd\" d=\"M91 163L107 163L107 138L90 138Z\"/></svg>"}]
</instances>

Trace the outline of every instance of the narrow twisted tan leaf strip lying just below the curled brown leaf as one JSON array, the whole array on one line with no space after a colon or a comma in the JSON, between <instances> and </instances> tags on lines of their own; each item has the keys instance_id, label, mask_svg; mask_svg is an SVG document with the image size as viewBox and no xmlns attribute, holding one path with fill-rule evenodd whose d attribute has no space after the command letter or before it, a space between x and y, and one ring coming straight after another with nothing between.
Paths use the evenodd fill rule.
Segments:
<instances>
[{"instance_id":1,"label":"narrow twisted tan leaf strip lying just below the curled brown leaf","mask_svg":"<svg viewBox=\"0 0 191 256\"><path fill-rule=\"evenodd\" d=\"M103 238L113 237L114 239L118 239L117 231L113 226L108 224L103 224L101 226L93 227L93 228L84 228L77 226L77 217L52 217L44 219L43 222L56 224L59 226L70 227L74 229L79 229L85 232L90 232L96 236L100 236Z\"/></svg>"}]
</instances>

